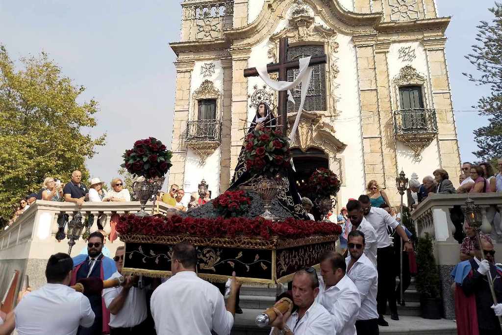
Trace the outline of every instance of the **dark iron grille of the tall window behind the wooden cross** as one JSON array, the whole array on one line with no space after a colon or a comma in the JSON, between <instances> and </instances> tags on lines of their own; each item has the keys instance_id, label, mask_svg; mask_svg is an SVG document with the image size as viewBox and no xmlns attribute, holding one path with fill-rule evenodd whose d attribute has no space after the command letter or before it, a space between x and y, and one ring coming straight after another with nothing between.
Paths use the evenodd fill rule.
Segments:
<instances>
[{"instance_id":1,"label":"dark iron grille of the tall window behind the wooden cross","mask_svg":"<svg viewBox=\"0 0 502 335\"><path fill-rule=\"evenodd\" d=\"M288 50L288 57L291 60L299 59L307 56L318 56L324 54L324 46L322 45L301 45L297 47L290 47ZM294 81L298 76L299 70L288 71L288 81ZM300 103L302 84L299 84L291 90L293 98L297 106ZM315 65L310 80L310 86L307 90L305 103L303 105L305 110L326 110L326 69L325 64ZM288 102L288 113L296 111L293 103Z\"/></svg>"}]
</instances>

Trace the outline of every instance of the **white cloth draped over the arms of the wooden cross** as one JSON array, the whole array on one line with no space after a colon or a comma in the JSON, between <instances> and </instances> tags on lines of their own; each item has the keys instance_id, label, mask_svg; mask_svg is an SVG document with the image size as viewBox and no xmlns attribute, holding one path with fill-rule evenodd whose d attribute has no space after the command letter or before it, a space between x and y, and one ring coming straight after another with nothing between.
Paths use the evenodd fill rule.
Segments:
<instances>
[{"instance_id":1,"label":"white cloth draped over the arms of the wooden cross","mask_svg":"<svg viewBox=\"0 0 502 335\"><path fill-rule=\"evenodd\" d=\"M298 128L298 123L300 122L300 116L302 115L303 103L305 102L305 96L307 95L307 90L310 86L310 78L312 77L313 67L309 66L310 56L300 58L299 59L299 73L294 81L276 81L270 78L269 73L267 71L267 65L260 65L256 67L260 78L272 89L276 91L285 91L288 90L288 100L295 103L293 99L293 95L291 94L291 89L296 87L300 82L302 83L302 92L300 99L300 106L298 108L298 113L296 114L295 123L293 128L291 129L291 141L293 143L296 137L296 129ZM287 120L283 120L282 122L287 122Z\"/></svg>"}]
</instances>

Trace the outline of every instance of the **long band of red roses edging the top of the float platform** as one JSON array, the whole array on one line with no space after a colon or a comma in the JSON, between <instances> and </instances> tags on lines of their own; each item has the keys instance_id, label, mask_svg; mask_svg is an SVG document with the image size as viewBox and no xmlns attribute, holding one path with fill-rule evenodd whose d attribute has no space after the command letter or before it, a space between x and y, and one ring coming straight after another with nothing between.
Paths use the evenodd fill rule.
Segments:
<instances>
[{"instance_id":1,"label":"long band of red roses edging the top of the float platform","mask_svg":"<svg viewBox=\"0 0 502 335\"><path fill-rule=\"evenodd\" d=\"M272 222L262 217L253 219L231 218L194 218L173 216L120 216L116 231L121 235L141 234L149 236L187 234L198 237L235 237L249 236L270 239L280 236L299 239L310 236L325 236L341 233L341 227L333 222L315 222L287 218L285 221Z\"/></svg>"}]
</instances>

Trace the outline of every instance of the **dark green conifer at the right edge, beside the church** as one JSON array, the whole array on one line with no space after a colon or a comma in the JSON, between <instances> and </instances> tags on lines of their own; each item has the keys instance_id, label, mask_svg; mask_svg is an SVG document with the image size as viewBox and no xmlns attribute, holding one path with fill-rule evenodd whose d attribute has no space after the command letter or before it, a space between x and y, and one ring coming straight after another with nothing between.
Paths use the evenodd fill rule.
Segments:
<instances>
[{"instance_id":1,"label":"dark green conifer at the right edge, beside the church","mask_svg":"<svg viewBox=\"0 0 502 335\"><path fill-rule=\"evenodd\" d=\"M481 21L476 28L476 40L480 44L472 46L473 53L465 56L482 73L479 77L463 73L478 85L489 85L491 93L481 97L476 106L480 116L488 117L488 126L476 129L474 140L479 150L473 154L482 161L502 157L502 4L488 9L494 19L488 23Z\"/></svg>"}]
</instances>

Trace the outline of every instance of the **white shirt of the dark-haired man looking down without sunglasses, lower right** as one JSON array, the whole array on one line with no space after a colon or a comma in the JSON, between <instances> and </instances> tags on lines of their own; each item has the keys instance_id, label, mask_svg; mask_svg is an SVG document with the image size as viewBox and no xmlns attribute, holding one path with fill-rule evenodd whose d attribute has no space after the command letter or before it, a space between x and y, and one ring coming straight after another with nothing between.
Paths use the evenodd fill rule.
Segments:
<instances>
[{"instance_id":1,"label":"white shirt of the dark-haired man looking down without sunglasses, lower right","mask_svg":"<svg viewBox=\"0 0 502 335\"><path fill-rule=\"evenodd\" d=\"M356 335L357 319L361 298L352 280L346 275L334 285L326 288L322 277L319 278L317 302L324 306L331 315L336 335Z\"/></svg>"}]
</instances>

